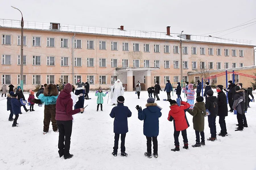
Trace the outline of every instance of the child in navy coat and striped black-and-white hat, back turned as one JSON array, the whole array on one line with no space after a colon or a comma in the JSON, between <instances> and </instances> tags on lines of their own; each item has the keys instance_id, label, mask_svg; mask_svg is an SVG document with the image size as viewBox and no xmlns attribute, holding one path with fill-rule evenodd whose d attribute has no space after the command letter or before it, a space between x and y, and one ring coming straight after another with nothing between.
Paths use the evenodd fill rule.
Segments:
<instances>
[{"instance_id":1,"label":"child in navy coat and striped black-and-white hat, back turned","mask_svg":"<svg viewBox=\"0 0 256 170\"><path fill-rule=\"evenodd\" d=\"M114 120L114 133L115 133L115 144L113 147L113 156L117 156L119 135L121 134L121 156L127 156L125 153L125 136L128 132L128 121L127 118L131 117L131 111L127 106L123 105L124 97L117 97L117 106L114 107L110 113L110 117L115 118Z\"/></svg>"}]
</instances>

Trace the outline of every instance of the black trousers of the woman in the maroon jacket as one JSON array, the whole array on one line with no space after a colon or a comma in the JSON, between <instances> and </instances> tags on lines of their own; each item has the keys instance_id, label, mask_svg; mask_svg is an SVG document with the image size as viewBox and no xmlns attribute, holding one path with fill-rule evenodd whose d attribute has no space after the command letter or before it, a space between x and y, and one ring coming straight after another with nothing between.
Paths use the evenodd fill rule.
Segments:
<instances>
[{"instance_id":1,"label":"black trousers of the woman in the maroon jacket","mask_svg":"<svg viewBox=\"0 0 256 170\"><path fill-rule=\"evenodd\" d=\"M69 155L72 124L73 124L72 120L68 120L68 121L57 120L57 126L59 129L59 143L58 143L59 154L60 155L64 154L64 157Z\"/></svg>"}]
</instances>

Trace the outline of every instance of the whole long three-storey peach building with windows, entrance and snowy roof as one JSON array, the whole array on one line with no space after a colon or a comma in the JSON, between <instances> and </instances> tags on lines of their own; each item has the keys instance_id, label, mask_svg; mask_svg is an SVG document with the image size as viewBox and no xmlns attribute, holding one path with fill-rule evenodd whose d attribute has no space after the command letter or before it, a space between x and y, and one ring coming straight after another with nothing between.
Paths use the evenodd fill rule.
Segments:
<instances>
[{"instance_id":1,"label":"whole long three-storey peach building with windows, entrance and snowy roof","mask_svg":"<svg viewBox=\"0 0 256 170\"><path fill-rule=\"evenodd\" d=\"M3 20L1 34L1 84L20 84L20 26ZM34 24L34 25L33 25ZM68 25L69 26L69 25ZM188 72L255 65L251 41L206 36L69 26L58 23L24 22L24 89L36 84L89 82L90 88L109 88L119 78L132 91L164 87L166 80L195 79ZM168 32L169 31L169 32ZM183 59L181 77L180 53Z\"/></svg>"}]
</instances>

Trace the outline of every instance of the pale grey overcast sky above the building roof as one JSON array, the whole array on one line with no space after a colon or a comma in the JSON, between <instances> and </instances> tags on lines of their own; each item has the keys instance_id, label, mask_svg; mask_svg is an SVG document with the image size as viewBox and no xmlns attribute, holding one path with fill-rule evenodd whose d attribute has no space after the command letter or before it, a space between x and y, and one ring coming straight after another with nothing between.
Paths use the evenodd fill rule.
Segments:
<instances>
[{"instance_id":1,"label":"pale grey overcast sky above the building roof","mask_svg":"<svg viewBox=\"0 0 256 170\"><path fill-rule=\"evenodd\" d=\"M170 26L171 33L184 30L192 35L229 29L256 18L256 0L1 0L0 4L3 19L20 20L20 12L11 8L13 5L22 11L26 21L110 28L124 25L125 29L159 32ZM256 45L254 24L214 36L230 33L223 37L253 40Z\"/></svg>"}]
</instances>

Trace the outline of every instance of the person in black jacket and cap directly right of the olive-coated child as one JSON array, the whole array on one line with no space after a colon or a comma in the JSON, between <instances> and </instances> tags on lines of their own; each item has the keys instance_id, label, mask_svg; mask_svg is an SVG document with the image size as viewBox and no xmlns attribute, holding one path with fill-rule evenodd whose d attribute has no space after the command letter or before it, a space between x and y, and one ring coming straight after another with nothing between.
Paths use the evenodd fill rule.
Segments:
<instances>
[{"instance_id":1,"label":"person in black jacket and cap directly right of the olive-coated child","mask_svg":"<svg viewBox=\"0 0 256 170\"><path fill-rule=\"evenodd\" d=\"M218 100L216 96L213 96L213 91L208 90L208 97L205 100L205 109L208 109L210 115L208 116L208 124L210 128L211 137L207 139L208 141L216 140L216 116L218 115Z\"/></svg>"}]
</instances>

